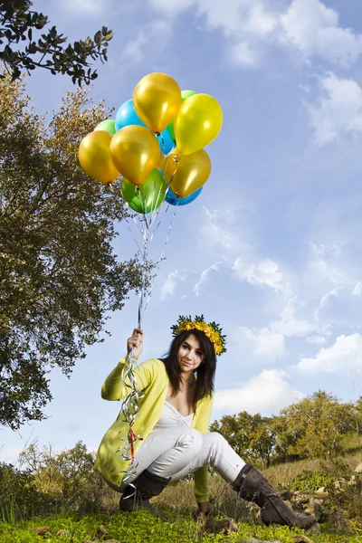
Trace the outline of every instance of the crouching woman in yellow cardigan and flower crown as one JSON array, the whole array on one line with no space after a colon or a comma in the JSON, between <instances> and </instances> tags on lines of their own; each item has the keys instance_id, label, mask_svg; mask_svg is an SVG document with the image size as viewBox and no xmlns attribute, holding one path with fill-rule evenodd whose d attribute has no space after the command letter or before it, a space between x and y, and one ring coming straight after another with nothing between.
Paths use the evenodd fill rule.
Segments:
<instances>
[{"instance_id":1,"label":"crouching woman in yellow cardigan and flower crown","mask_svg":"<svg viewBox=\"0 0 362 543\"><path fill-rule=\"evenodd\" d=\"M207 466L211 465L240 498L262 508L265 524L310 528L316 522L314 517L294 513L262 473L243 462L220 433L208 432L216 355L226 350L222 330L214 322L206 324L203 316L194 320L180 317L172 329L175 338L167 357L151 358L134 369L140 397L132 430L141 439L134 443L133 465L119 453L129 432L121 416L103 437L97 453L96 469L113 490L122 493L120 510L146 508L156 513L149 499L170 481L193 473L198 510L207 516L211 511ZM141 329L133 331L127 348L138 359L143 348ZM127 357L120 360L104 382L104 399L122 400L129 394L121 377L126 361Z\"/></svg>"}]
</instances>

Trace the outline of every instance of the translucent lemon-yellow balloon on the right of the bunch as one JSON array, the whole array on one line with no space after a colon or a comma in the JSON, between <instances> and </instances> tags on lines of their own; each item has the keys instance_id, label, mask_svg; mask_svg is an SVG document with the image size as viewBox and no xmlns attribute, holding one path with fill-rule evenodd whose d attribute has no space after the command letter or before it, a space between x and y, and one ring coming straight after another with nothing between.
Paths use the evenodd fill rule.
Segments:
<instances>
[{"instance_id":1,"label":"translucent lemon-yellow balloon on the right of the bunch","mask_svg":"<svg viewBox=\"0 0 362 543\"><path fill-rule=\"evenodd\" d=\"M223 110L209 94L194 94L185 100L175 121L177 148L183 155L209 145L223 126Z\"/></svg>"}]
</instances>

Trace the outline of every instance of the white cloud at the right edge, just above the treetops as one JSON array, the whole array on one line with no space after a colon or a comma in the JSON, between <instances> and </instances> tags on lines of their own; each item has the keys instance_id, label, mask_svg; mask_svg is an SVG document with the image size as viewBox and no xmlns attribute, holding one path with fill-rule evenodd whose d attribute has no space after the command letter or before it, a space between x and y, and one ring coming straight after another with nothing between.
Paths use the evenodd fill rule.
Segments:
<instances>
[{"instance_id":1,"label":"white cloud at the right edge, just above the treetops","mask_svg":"<svg viewBox=\"0 0 362 543\"><path fill-rule=\"evenodd\" d=\"M362 336L339 336L334 345L321 348L314 358L302 358L298 364L300 373L346 375L348 370L362 367Z\"/></svg>"}]
</instances>

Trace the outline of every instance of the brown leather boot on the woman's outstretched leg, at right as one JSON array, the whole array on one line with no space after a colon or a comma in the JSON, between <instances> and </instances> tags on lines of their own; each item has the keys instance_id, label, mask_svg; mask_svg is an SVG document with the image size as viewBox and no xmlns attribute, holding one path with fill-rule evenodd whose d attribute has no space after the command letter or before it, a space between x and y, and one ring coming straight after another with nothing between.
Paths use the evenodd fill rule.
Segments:
<instances>
[{"instance_id":1,"label":"brown leather boot on the woman's outstretched leg, at right","mask_svg":"<svg viewBox=\"0 0 362 543\"><path fill-rule=\"evenodd\" d=\"M233 489L243 500L253 501L262 509L264 524L282 524L310 529L317 520L312 515L297 515L281 500L271 484L251 464L245 464L233 483Z\"/></svg>"}]
</instances>

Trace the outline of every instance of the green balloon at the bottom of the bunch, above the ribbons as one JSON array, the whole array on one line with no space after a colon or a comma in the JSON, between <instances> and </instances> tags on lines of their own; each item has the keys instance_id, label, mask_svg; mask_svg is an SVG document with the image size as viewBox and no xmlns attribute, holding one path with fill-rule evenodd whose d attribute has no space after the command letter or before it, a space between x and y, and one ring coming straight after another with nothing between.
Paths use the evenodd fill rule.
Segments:
<instances>
[{"instance_id":1,"label":"green balloon at the bottom of the bunch, above the ribbons","mask_svg":"<svg viewBox=\"0 0 362 543\"><path fill-rule=\"evenodd\" d=\"M129 207L137 213L146 214L156 211L165 200L167 182L157 169L154 169L142 183L132 185L127 179L122 179L122 195Z\"/></svg>"}]
</instances>

